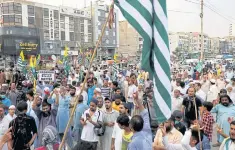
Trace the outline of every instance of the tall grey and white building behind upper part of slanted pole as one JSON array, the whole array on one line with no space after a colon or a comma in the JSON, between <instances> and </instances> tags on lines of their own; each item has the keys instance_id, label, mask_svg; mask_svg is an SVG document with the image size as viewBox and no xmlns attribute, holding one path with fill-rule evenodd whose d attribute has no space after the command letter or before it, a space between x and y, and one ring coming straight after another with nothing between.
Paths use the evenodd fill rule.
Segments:
<instances>
[{"instance_id":1,"label":"tall grey and white building behind upper part of slanted pole","mask_svg":"<svg viewBox=\"0 0 235 150\"><path fill-rule=\"evenodd\" d=\"M101 35L103 25L108 17L109 5L104 1L99 0L92 3L91 6L84 8L88 12L92 11L92 23L93 23L93 43L94 45ZM113 57L116 49L119 47L119 15L118 10L114 8L114 22L110 29L108 25L105 28L104 35L97 51L97 55L102 58ZM104 57L105 56L105 57Z\"/></svg>"}]
</instances>

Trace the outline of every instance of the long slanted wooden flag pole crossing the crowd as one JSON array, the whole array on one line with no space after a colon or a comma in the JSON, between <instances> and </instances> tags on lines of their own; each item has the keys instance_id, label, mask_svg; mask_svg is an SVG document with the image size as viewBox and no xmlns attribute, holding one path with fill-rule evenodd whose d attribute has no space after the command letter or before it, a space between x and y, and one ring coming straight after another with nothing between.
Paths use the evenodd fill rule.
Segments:
<instances>
[{"instance_id":1,"label":"long slanted wooden flag pole crossing the crowd","mask_svg":"<svg viewBox=\"0 0 235 150\"><path fill-rule=\"evenodd\" d=\"M114 1L112 1L111 6L112 6L112 7L114 6ZM110 7L110 8L111 8L111 7ZM110 9L110 10L111 10L111 9ZM99 37L99 39L98 39L98 42L96 43L95 50L94 50L94 52L93 52L93 54L92 54L92 57L91 57L91 60L90 60L90 64L89 64L89 68L88 68L88 71L87 71L87 73L86 73L85 79L84 79L83 84L82 84L82 88L81 88L81 90L80 90L78 96L75 98L75 99L76 99L76 100L75 100L75 104L74 104L73 110L72 110L72 112L71 112L71 114L70 114L69 121L68 121L68 124L67 124L67 126L66 126L66 129L65 129L65 131L64 131L64 136L63 136L63 139L62 139L62 141L61 141L59 150L62 150L62 148L63 148L65 139L66 139L66 137L67 137L67 134L68 134L68 131L69 131L69 128L70 128L70 125L71 125L71 123L72 123L72 119L73 119L73 116L74 116L74 112L75 112L76 107L77 107L77 104L78 104L78 100L77 100L77 99L81 96L81 94L82 94L82 92L83 92L83 90L84 90L84 88L85 88L85 84L86 84L86 82L87 82L87 79L88 79L88 76L89 76L89 71L90 71L90 69L91 69L93 60L94 60L94 58L95 58L96 51L97 51L97 49L98 49L98 47L99 47L99 45L100 45L100 43L101 43L102 37L103 37L104 32L105 32L105 28L106 28L106 26L107 26L107 23L108 23L110 17L111 17L111 13L110 13L111 11L110 11L110 10L109 10L109 13L108 13L108 17L107 17L107 19L106 19L106 21L105 21L105 24L103 25L103 28L102 28L102 31L101 31L101 35L100 35L100 37Z\"/></svg>"}]
</instances>

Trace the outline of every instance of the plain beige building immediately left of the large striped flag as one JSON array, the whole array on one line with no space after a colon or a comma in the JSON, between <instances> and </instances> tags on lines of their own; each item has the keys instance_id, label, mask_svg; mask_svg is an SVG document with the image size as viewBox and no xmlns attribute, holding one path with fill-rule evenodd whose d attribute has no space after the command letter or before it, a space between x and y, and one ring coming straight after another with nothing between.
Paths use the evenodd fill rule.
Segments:
<instances>
[{"instance_id":1,"label":"plain beige building immediately left of the large striped flag","mask_svg":"<svg viewBox=\"0 0 235 150\"><path fill-rule=\"evenodd\" d=\"M136 59L140 60L143 38L127 21L119 22L119 41L120 55L136 56Z\"/></svg>"}]
</instances>

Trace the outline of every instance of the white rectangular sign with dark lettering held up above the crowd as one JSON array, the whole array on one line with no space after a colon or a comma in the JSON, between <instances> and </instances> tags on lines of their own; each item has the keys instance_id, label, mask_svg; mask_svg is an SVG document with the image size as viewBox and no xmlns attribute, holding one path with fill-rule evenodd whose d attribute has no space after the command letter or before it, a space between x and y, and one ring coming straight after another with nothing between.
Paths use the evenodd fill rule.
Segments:
<instances>
[{"instance_id":1,"label":"white rectangular sign with dark lettering held up above the crowd","mask_svg":"<svg viewBox=\"0 0 235 150\"><path fill-rule=\"evenodd\" d=\"M54 81L55 80L55 71L51 70L39 70L38 71L39 81Z\"/></svg>"}]
</instances>

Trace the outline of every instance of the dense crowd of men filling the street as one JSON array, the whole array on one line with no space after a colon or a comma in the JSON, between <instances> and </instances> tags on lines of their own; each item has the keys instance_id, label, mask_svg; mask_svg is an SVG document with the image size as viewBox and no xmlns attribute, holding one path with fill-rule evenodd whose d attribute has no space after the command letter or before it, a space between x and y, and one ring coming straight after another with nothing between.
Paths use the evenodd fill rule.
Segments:
<instances>
[{"instance_id":1,"label":"dense crowd of men filling the street","mask_svg":"<svg viewBox=\"0 0 235 150\"><path fill-rule=\"evenodd\" d=\"M77 101L63 149L235 149L233 69L220 64L206 64L202 72L194 68L172 71L172 115L164 123L157 122L152 81L136 67L116 77L99 67L90 72L77 67L66 77L55 67L55 81L37 81L36 88L19 71L2 70L0 146L58 149Z\"/></svg>"}]
</instances>

